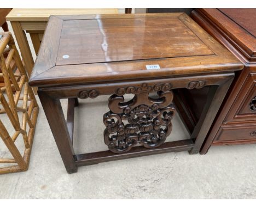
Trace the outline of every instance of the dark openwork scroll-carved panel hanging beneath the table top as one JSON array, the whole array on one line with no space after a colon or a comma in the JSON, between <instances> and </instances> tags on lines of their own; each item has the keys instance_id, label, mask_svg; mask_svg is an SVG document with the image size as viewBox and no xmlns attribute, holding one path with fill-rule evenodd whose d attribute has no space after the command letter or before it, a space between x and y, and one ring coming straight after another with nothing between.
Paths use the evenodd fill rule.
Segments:
<instances>
[{"instance_id":1,"label":"dark openwork scroll-carved panel hanging beneath the table top","mask_svg":"<svg viewBox=\"0 0 256 208\"><path fill-rule=\"evenodd\" d=\"M171 104L173 93L170 91L171 87L164 87L167 86L165 84L159 84L158 88L155 86L150 87L143 83L142 87L138 88L119 88L116 91L119 95L109 97L110 111L103 115L103 122L106 126L104 142L110 151L127 152L136 144L145 148L156 148L170 135L171 120L176 112ZM156 90L158 98L148 96L149 92ZM135 96L132 100L124 102L125 93ZM124 124L124 121L127 124Z\"/></svg>"}]
</instances>

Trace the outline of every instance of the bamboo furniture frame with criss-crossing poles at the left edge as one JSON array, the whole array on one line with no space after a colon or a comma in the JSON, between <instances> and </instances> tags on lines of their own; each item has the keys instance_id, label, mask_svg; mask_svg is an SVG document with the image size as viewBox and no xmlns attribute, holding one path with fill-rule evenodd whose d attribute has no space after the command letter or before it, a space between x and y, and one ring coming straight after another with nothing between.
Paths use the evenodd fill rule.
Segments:
<instances>
[{"instance_id":1,"label":"bamboo furniture frame with criss-crossing poles at the left edge","mask_svg":"<svg viewBox=\"0 0 256 208\"><path fill-rule=\"evenodd\" d=\"M6 58L4 54L7 52L8 56ZM19 69L19 74L14 74L10 68L10 63L13 60ZM0 168L0 174L4 174L28 169L39 111L36 97L32 88L28 85L26 71L10 32L0 33L0 69L2 71L0 77L3 77L5 83L5 86L0 88L0 137L13 156L13 158L0 158L0 163L17 163ZM19 101L22 102L22 106L19 106ZM12 136L10 136L1 120L1 114L3 113L8 115L14 128ZM19 115L22 116L21 121ZM23 156L15 145L15 140L20 134L25 144Z\"/></svg>"}]
</instances>

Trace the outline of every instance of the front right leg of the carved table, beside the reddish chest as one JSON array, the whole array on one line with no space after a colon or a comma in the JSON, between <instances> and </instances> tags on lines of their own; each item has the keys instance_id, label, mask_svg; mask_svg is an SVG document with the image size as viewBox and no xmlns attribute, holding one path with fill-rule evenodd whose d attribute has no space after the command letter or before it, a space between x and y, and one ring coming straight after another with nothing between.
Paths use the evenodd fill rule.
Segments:
<instances>
[{"instance_id":1,"label":"front right leg of the carved table, beside the reddish chest","mask_svg":"<svg viewBox=\"0 0 256 208\"><path fill-rule=\"evenodd\" d=\"M230 84L234 78L234 73L230 74L229 77L226 77L226 82L218 86L211 86L210 92L208 94L208 99L206 101L205 108L202 111L201 118L199 119L199 133L195 139L195 145L193 149L190 150L190 154L197 154L200 151L200 148L205 141L208 131L213 123L216 114L219 111L220 105L229 89ZM217 89L214 89L217 88ZM215 91L214 95L213 91ZM195 127L195 132L197 126ZM198 131L197 131L198 132ZM192 138L195 133L192 133ZM210 146L209 146L210 147Z\"/></svg>"}]
</instances>

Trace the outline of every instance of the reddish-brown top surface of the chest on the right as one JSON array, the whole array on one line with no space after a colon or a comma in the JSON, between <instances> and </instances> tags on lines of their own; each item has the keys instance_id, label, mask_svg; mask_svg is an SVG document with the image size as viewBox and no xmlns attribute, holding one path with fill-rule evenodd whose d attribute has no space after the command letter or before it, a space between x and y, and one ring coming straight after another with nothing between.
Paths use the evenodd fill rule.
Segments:
<instances>
[{"instance_id":1,"label":"reddish-brown top surface of the chest on the right","mask_svg":"<svg viewBox=\"0 0 256 208\"><path fill-rule=\"evenodd\" d=\"M256 9L199 9L248 59L256 60ZM250 58L251 57L251 58Z\"/></svg>"}]
</instances>

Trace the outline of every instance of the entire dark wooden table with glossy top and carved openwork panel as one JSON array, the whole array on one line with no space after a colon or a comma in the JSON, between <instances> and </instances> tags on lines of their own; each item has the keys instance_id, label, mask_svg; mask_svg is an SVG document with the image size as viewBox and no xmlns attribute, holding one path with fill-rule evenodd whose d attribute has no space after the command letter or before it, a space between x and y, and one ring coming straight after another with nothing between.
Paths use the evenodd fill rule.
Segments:
<instances>
[{"instance_id":1,"label":"entire dark wooden table with glossy top and carved openwork panel","mask_svg":"<svg viewBox=\"0 0 256 208\"><path fill-rule=\"evenodd\" d=\"M51 16L30 79L68 173L79 166L170 151L199 152L243 65L183 13ZM210 86L191 138L172 131L173 90ZM149 93L158 93L151 97ZM133 99L124 102L124 94ZM102 142L108 151L75 154L78 99L110 95ZM60 99L68 99L67 121ZM139 145L140 144L140 145Z\"/></svg>"}]
</instances>

